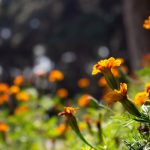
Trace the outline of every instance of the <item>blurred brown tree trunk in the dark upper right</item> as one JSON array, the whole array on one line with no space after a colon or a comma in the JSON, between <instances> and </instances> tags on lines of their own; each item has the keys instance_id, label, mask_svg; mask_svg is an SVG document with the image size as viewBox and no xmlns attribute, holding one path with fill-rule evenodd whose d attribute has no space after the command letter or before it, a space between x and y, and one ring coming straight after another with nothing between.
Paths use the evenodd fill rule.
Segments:
<instances>
[{"instance_id":1,"label":"blurred brown tree trunk in the dark upper right","mask_svg":"<svg viewBox=\"0 0 150 150\"><path fill-rule=\"evenodd\" d=\"M150 52L150 32L143 28L150 15L150 0L124 0L123 7L130 63L135 70L140 68L142 56Z\"/></svg>"}]
</instances>

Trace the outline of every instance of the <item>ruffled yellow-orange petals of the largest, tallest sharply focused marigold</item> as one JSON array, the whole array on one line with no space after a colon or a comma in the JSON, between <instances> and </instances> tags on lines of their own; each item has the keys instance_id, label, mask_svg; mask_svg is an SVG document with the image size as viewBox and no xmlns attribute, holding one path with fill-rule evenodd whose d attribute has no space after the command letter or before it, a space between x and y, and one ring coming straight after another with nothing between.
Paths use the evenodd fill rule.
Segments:
<instances>
[{"instance_id":1,"label":"ruffled yellow-orange petals of the largest, tallest sharply focused marigold","mask_svg":"<svg viewBox=\"0 0 150 150\"><path fill-rule=\"evenodd\" d=\"M108 70L119 67L121 64L122 60L120 58L115 59L113 57L110 57L109 59L101 60L93 66L92 75L96 75L98 73L105 74Z\"/></svg>"}]
</instances>

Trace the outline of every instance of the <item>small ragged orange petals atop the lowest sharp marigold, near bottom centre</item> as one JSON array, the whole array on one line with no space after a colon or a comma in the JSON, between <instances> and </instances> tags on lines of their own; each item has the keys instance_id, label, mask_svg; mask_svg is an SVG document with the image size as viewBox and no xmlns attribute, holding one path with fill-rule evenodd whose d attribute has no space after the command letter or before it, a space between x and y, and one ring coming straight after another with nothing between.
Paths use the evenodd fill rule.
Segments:
<instances>
[{"instance_id":1,"label":"small ragged orange petals atop the lowest sharp marigold, near bottom centre","mask_svg":"<svg viewBox=\"0 0 150 150\"><path fill-rule=\"evenodd\" d=\"M73 108L73 107L64 107L64 112L60 112L58 115L59 116L68 116L68 115L73 115L78 108Z\"/></svg>"}]
</instances>

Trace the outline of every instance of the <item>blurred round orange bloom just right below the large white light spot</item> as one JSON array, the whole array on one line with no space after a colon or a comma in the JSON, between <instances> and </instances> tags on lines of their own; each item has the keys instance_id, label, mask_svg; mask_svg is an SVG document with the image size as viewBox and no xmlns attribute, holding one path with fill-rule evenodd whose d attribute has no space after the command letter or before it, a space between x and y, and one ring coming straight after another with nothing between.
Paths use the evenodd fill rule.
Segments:
<instances>
[{"instance_id":1,"label":"blurred round orange bloom just right below the large white light spot","mask_svg":"<svg viewBox=\"0 0 150 150\"><path fill-rule=\"evenodd\" d=\"M49 81L50 82L56 82L56 81L61 81L64 79L64 75L61 71L59 70L52 70L49 74Z\"/></svg>"}]
</instances>

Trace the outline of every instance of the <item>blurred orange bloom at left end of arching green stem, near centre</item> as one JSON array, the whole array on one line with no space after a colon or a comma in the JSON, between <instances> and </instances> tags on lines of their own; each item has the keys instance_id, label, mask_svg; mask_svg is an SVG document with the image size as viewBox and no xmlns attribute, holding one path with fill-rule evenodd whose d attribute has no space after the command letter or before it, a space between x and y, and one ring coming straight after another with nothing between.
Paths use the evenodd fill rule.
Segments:
<instances>
[{"instance_id":1,"label":"blurred orange bloom at left end of arching green stem, near centre","mask_svg":"<svg viewBox=\"0 0 150 150\"><path fill-rule=\"evenodd\" d=\"M89 104L90 99L91 99L91 95L89 94L82 95L78 100L78 105L80 107L86 107Z\"/></svg>"}]
</instances>

